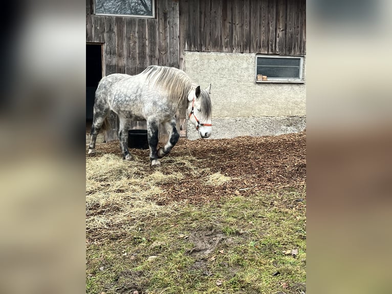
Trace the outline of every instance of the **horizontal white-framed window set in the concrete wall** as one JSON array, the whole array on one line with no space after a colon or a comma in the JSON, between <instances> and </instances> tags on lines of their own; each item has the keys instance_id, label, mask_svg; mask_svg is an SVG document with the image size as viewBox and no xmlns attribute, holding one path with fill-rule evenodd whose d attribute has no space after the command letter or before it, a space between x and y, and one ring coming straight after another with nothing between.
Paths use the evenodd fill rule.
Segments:
<instances>
[{"instance_id":1,"label":"horizontal white-framed window set in the concrete wall","mask_svg":"<svg viewBox=\"0 0 392 294\"><path fill-rule=\"evenodd\" d=\"M256 82L303 82L302 56L257 55Z\"/></svg>"}]
</instances>

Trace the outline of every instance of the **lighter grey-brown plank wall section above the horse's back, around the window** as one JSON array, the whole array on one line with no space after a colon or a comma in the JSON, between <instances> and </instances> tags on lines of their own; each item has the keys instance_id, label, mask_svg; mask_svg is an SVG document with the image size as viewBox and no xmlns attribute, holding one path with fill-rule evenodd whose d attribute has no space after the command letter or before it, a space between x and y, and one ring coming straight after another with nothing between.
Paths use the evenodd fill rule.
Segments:
<instances>
[{"instance_id":1,"label":"lighter grey-brown plank wall section above the horse's back, around the window","mask_svg":"<svg viewBox=\"0 0 392 294\"><path fill-rule=\"evenodd\" d=\"M104 74L138 74L150 65L179 68L179 1L157 0L156 18L93 14L86 0L86 42L103 43Z\"/></svg>"}]
</instances>

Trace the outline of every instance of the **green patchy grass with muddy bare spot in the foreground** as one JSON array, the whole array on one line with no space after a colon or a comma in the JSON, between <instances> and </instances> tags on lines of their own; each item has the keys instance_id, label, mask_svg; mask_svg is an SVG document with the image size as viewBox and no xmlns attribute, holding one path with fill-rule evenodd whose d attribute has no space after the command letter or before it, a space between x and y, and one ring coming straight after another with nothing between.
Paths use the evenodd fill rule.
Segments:
<instances>
[{"instance_id":1,"label":"green patchy grass with muddy bare spot in the foreground","mask_svg":"<svg viewBox=\"0 0 392 294\"><path fill-rule=\"evenodd\" d=\"M267 198L276 205L265 206ZM306 216L304 207L279 207L279 199L177 205L164 218L143 218L142 229L121 240L93 242L86 292L297 294L305 290ZM195 222L203 225L189 225Z\"/></svg>"}]
</instances>

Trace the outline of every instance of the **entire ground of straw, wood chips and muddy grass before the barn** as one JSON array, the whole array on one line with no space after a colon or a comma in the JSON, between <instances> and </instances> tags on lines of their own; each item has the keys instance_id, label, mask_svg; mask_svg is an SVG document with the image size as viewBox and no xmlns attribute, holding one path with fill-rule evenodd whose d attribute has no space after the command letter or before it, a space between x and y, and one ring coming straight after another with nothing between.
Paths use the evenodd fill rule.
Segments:
<instances>
[{"instance_id":1,"label":"entire ground of straw, wood chips and muddy grass before the barn","mask_svg":"<svg viewBox=\"0 0 392 294\"><path fill-rule=\"evenodd\" d=\"M129 152L86 151L86 293L306 291L306 132Z\"/></svg>"}]
</instances>

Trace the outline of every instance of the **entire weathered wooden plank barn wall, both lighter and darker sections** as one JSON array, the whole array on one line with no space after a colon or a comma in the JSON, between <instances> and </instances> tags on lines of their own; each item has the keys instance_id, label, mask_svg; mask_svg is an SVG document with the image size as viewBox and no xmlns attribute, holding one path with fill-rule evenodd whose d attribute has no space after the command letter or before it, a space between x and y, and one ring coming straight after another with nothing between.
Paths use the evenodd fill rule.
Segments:
<instances>
[{"instance_id":1,"label":"entire weathered wooden plank barn wall, both lighter and darker sections","mask_svg":"<svg viewBox=\"0 0 392 294\"><path fill-rule=\"evenodd\" d=\"M155 18L101 16L86 0L86 42L103 44L103 75L134 75L149 65L184 69L185 50L306 54L305 0L156 0L155 9ZM184 121L177 121L182 136ZM118 130L114 115L110 122L109 141Z\"/></svg>"}]
</instances>

